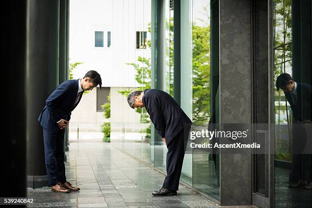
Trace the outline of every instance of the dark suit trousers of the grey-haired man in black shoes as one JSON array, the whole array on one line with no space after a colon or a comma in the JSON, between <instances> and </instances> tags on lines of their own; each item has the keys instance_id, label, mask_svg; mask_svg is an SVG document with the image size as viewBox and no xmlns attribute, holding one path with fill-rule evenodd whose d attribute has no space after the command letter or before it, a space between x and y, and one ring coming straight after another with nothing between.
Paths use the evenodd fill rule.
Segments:
<instances>
[{"instance_id":1,"label":"dark suit trousers of the grey-haired man in black shoes","mask_svg":"<svg viewBox=\"0 0 312 208\"><path fill-rule=\"evenodd\" d=\"M167 144L167 176L165 177L163 184L163 188L165 189L174 191L178 190L190 129L191 127L184 128L170 141L169 144Z\"/></svg>"}]
</instances>

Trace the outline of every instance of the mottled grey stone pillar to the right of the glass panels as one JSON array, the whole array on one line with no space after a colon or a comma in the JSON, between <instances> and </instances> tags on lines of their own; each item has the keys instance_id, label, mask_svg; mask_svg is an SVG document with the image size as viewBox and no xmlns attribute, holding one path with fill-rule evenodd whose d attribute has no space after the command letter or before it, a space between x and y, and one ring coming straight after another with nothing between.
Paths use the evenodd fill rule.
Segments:
<instances>
[{"instance_id":1,"label":"mottled grey stone pillar to the right of the glass panels","mask_svg":"<svg viewBox=\"0 0 312 208\"><path fill-rule=\"evenodd\" d=\"M241 131L246 127L244 124L252 121L251 5L250 0L220 0L219 2L221 130L233 131L230 128L235 123L238 124L235 126L236 131ZM251 138L245 139L244 142L251 142ZM247 141L248 139L250 141ZM220 139L220 142L233 143L224 138ZM220 148L221 205L252 203L251 162L250 149Z\"/></svg>"}]
</instances>

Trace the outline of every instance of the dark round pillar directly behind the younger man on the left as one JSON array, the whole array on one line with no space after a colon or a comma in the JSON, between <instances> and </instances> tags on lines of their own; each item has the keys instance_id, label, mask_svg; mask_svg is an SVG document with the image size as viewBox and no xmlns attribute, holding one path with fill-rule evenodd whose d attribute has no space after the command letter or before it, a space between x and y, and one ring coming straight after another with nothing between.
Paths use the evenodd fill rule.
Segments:
<instances>
[{"instance_id":1,"label":"dark round pillar directly behind the younger man on the left","mask_svg":"<svg viewBox=\"0 0 312 208\"><path fill-rule=\"evenodd\" d=\"M37 118L59 84L59 0L29 0L28 187L48 185Z\"/></svg>"}]
</instances>

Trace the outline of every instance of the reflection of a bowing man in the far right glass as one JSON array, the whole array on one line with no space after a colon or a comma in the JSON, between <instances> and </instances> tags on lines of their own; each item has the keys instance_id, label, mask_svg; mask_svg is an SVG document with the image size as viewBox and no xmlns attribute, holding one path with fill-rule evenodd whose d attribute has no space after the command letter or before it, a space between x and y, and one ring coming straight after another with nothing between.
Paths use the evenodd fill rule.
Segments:
<instances>
[{"instance_id":1,"label":"reflection of a bowing man in the far right glass","mask_svg":"<svg viewBox=\"0 0 312 208\"><path fill-rule=\"evenodd\" d=\"M305 145L309 143L308 140L311 140L311 135L306 135L304 125L312 123L312 87L306 83L294 82L288 73L282 73L276 79L276 88L284 91L293 112L292 171L289 175L289 187L312 189L311 154L301 154Z\"/></svg>"}]
</instances>

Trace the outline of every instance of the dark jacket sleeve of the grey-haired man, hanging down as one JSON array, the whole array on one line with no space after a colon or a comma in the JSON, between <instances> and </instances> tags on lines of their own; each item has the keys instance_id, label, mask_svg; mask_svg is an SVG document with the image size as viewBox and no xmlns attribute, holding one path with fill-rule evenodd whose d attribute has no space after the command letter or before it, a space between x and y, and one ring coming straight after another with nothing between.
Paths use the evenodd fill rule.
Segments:
<instances>
[{"instance_id":1,"label":"dark jacket sleeve of the grey-haired man, hanging down","mask_svg":"<svg viewBox=\"0 0 312 208\"><path fill-rule=\"evenodd\" d=\"M157 100L151 100L151 98L145 97L145 108L147 112L149 112L149 118L151 122L154 124L155 129L157 130L158 134L164 138L165 137L165 130L166 124L164 122L164 116L162 109L159 105Z\"/></svg>"}]
</instances>

